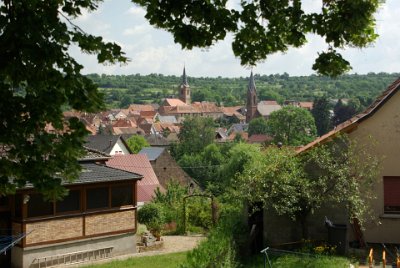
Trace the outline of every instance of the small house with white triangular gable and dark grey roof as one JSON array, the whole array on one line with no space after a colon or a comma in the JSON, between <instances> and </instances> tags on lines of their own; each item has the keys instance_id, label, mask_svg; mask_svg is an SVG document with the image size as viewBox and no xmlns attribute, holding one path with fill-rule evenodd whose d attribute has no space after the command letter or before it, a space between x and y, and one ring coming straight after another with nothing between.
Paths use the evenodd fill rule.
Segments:
<instances>
[{"instance_id":1,"label":"small house with white triangular gable and dark grey roof","mask_svg":"<svg viewBox=\"0 0 400 268\"><path fill-rule=\"evenodd\" d=\"M86 146L109 155L132 153L121 135L88 136Z\"/></svg>"}]
</instances>

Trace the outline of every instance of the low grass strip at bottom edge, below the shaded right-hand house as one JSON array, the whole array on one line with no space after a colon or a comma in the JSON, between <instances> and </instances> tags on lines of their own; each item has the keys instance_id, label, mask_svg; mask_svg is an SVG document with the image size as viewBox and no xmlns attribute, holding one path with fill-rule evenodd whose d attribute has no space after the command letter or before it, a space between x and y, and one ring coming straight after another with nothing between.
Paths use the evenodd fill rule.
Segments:
<instances>
[{"instance_id":1,"label":"low grass strip at bottom edge, below the shaded right-hand house","mask_svg":"<svg viewBox=\"0 0 400 268\"><path fill-rule=\"evenodd\" d=\"M350 261L343 257L337 256L316 256L313 257L298 257L298 256L280 256L270 257L272 267L279 268L348 268ZM253 256L244 262L246 268L264 267L264 256L262 254ZM267 262L267 267L269 267Z\"/></svg>"}]
</instances>

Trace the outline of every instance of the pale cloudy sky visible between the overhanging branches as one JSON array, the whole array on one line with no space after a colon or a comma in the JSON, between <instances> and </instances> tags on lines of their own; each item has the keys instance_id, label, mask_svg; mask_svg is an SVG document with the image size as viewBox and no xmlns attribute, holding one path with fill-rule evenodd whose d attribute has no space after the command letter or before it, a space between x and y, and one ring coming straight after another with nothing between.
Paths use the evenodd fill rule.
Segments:
<instances>
[{"instance_id":1,"label":"pale cloudy sky visible between the overhanging branches","mask_svg":"<svg viewBox=\"0 0 400 268\"><path fill-rule=\"evenodd\" d=\"M231 0L228 4L235 5ZM306 0L306 11L316 11L321 1ZM98 74L182 74L183 66L190 77L247 77L250 69L240 65L231 49L232 36L227 36L208 49L182 50L170 33L155 29L144 18L145 11L129 0L105 0L95 12L84 12L74 20L84 31L119 44L130 62L105 66L96 57L73 47L70 53L84 66L83 73ZM346 48L341 53L350 61L350 73L400 72L400 1L386 0L376 14L378 39L371 46ZM285 54L271 55L253 67L260 75L288 73L290 76L314 74L312 65L318 52L327 48L317 36L308 36L308 43Z\"/></svg>"}]
</instances>

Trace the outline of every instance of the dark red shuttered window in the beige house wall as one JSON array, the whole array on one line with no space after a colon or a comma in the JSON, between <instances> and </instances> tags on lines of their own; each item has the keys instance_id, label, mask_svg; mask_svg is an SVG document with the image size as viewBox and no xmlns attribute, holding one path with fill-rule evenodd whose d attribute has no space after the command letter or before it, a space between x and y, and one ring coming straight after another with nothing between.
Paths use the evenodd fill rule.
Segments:
<instances>
[{"instance_id":1,"label":"dark red shuttered window in the beige house wall","mask_svg":"<svg viewBox=\"0 0 400 268\"><path fill-rule=\"evenodd\" d=\"M383 177L384 213L400 214L400 177Z\"/></svg>"}]
</instances>

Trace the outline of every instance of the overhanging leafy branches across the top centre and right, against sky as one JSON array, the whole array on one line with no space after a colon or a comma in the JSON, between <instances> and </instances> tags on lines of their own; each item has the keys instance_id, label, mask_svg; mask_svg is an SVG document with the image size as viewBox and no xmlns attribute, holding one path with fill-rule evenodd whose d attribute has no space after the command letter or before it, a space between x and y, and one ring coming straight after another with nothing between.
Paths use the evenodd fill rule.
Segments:
<instances>
[{"instance_id":1,"label":"overhanging leafy branches across the top centre and right, against sky","mask_svg":"<svg viewBox=\"0 0 400 268\"><path fill-rule=\"evenodd\" d=\"M307 34L319 35L328 49L319 53L313 69L338 76L351 67L336 48L362 48L377 38L373 15L382 1L321 0L321 10L311 13L301 0L241 1L236 9L227 0L133 2L146 9L150 24L171 32L182 48L209 47L232 33L233 53L243 65L301 47Z\"/></svg>"}]
</instances>

